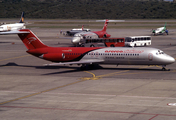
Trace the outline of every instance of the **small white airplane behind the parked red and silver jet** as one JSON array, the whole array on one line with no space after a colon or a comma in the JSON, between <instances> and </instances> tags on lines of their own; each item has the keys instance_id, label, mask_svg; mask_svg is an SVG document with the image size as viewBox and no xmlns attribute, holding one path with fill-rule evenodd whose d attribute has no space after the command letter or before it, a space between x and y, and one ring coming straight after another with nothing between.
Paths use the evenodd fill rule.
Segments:
<instances>
[{"instance_id":1,"label":"small white airplane behind the parked red and silver jet","mask_svg":"<svg viewBox=\"0 0 176 120\"><path fill-rule=\"evenodd\" d=\"M82 28L78 28L78 29L71 29L70 31L66 31L62 32L63 34L67 35L67 36L74 36L76 33L80 33L80 32L90 32L90 29L85 29L84 25L82 25Z\"/></svg>"}]
</instances>

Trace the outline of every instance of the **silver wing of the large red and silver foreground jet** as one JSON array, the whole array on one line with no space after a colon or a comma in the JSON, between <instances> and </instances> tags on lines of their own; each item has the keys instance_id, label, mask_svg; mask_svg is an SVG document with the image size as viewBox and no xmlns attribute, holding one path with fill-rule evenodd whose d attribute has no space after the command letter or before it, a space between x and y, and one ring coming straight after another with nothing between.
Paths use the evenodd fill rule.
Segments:
<instances>
[{"instance_id":1,"label":"silver wing of the large red and silver foreground jet","mask_svg":"<svg viewBox=\"0 0 176 120\"><path fill-rule=\"evenodd\" d=\"M45 66L72 65L72 64L92 64L92 63L101 63L101 62L104 62L104 60L87 59L87 60L80 60L80 61L74 61L74 62L51 63L51 64L45 64Z\"/></svg>"}]
</instances>

